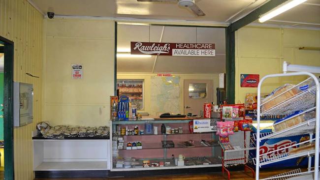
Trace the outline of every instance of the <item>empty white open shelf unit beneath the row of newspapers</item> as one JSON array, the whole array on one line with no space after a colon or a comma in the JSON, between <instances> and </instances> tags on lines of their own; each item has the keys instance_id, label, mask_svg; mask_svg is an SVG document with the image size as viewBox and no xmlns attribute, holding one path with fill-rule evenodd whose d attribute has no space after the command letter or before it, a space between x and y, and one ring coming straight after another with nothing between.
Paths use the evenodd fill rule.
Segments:
<instances>
[{"instance_id":1,"label":"empty white open shelf unit beneath the row of newspapers","mask_svg":"<svg viewBox=\"0 0 320 180\"><path fill-rule=\"evenodd\" d=\"M107 139L33 139L33 171L110 170Z\"/></svg>"}]
</instances>

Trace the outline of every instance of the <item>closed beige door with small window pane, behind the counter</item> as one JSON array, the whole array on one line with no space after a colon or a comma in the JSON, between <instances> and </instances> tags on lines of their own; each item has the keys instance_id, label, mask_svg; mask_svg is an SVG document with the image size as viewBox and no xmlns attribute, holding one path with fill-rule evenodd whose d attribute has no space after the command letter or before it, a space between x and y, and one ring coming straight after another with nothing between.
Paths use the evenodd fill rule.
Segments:
<instances>
[{"instance_id":1,"label":"closed beige door with small window pane, behind the counter","mask_svg":"<svg viewBox=\"0 0 320 180\"><path fill-rule=\"evenodd\" d=\"M201 116L204 103L213 102L212 80L184 81L184 112Z\"/></svg>"}]
</instances>

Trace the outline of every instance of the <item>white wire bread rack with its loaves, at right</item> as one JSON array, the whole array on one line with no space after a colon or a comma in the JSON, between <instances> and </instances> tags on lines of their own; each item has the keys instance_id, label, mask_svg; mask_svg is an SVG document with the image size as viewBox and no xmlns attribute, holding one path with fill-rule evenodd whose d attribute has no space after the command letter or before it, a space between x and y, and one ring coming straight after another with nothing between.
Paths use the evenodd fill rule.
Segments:
<instances>
[{"instance_id":1,"label":"white wire bread rack with its loaves, at right","mask_svg":"<svg viewBox=\"0 0 320 180\"><path fill-rule=\"evenodd\" d=\"M314 69L314 68L313 68ZM320 68L318 68L320 69ZM257 132L256 138L256 180L259 180L259 169L267 164L277 163L288 159L301 161L307 157L308 169L291 171L285 174L269 177L263 180L295 180L319 178L319 130L320 130L320 86L319 79L309 72L272 74L263 77L258 85L257 102ZM308 78L297 85L285 84L274 90L267 98L260 100L261 87L266 79L281 77ZM273 124L273 132L260 133L260 118L264 115L285 115L285 118ZM288 146L263 152L260 150L260 141L274 138L293 137L309 134L308 138ZM314 156L314 158L312 158ZM314 166L314 170L312 170Z\"/></svg>"}]
</instances>

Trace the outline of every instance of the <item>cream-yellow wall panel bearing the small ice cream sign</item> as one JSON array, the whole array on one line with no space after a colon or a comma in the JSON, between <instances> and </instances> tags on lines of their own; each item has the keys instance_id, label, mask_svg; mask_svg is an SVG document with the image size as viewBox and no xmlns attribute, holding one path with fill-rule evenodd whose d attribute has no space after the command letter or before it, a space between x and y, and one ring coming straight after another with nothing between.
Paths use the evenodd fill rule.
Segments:
<instances>
[{"instance_id":1,"label":"cream-yellow wall panel bearing the small ice cream sign","mask_svg":"<svg viewBox=\"0 0 320 180\"><path fill-rule=\"evenodd\" d=\"M114 22L47 19L44 120L52 125L107 125L114 94ZM71 64L83 79L71 79Z\"/></svg>"}]
</instances>

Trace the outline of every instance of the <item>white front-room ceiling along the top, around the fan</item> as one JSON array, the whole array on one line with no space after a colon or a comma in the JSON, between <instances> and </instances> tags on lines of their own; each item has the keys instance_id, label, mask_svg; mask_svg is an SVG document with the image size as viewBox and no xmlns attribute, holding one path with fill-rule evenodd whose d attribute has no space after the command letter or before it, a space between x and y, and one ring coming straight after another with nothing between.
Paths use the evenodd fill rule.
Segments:
<instances>
[{"instance_id":1,"label":"white front-room ceiling along the top, around the fan","mask_svg":"<svg viewBox=\"0 0 320 180\"><path fill-rule=\"evenodd\" d=\"M197 17L169 2L137 0L29 0L43 14L232 23L269 0L195 0L206 16ZM255 22L258 24L257 22ZM254 24L255 24L254 23ZM320 0L305 3L264 24L320 29Z\"/></svg>"}]
</instances>

